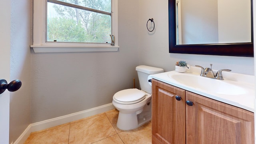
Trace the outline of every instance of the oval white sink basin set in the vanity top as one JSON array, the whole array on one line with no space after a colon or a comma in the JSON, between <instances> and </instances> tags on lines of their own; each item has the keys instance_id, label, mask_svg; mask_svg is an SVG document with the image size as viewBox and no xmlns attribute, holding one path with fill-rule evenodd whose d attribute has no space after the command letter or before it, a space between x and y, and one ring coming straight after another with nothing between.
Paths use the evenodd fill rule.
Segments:
<instances>
[{"instance_id":1,"label":"oval white sink basin set in the vanity top","mask_svg":"<svg viewBox=\"0 0 256 144\"><path fill-rule=\"evenodd\" d=\"M194 74L168 74L168 76L179 84L206 92L225 95L246 94L244 88L238 86L237 83L232 83L232 81L228 80L216 80Z\"/></svg>"}]
</instances>

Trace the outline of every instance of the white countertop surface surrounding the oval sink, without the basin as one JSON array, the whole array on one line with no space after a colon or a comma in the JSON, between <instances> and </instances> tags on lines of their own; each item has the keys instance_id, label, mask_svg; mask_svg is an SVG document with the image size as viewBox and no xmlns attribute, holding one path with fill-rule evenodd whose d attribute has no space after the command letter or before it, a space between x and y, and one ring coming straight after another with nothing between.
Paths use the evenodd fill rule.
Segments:
<instances>
[{"instance_id":1,"label":"white countertop surface surrounding the oval sink, without the basin","mask_svg":"<svg viewBox=\"0 0 256 144\"><path fill-rule=\"evenodd\" d=\"M254 76L252 75L246 75L246 74L238 74L238 73L232 73L232 72L222 72L223 75L223 82L228 82L235 84L239 87L242 87L243 90L245 90L242 94L218 94L218 92L212 92L212 91L206 91L202 90L200 88L195 88L192 86L187 86L185 84L182 84L182 82L178 82L170 77L172 74L184 74L184 75L198 75L200 76L201 68L193 67L191 66L189 70L185 73L179 73L176 71L170 71L170 72L163 72L159 74L152 74L148 77L148 79L156 79L161 82L165 82L167 84L170 84L172 86L176 86L178 88L182 88L184 90L188 90L190 92L194 92L196 94L200 94L202 96L212 98L214 100L218 100L220 102L224 102L226 104L230 104L232 106L237 106L239 108L243 108L245 110L248 110L250 112L254 112L254 99L255 99L255 83L254 83ZM216 74L216 70L214 70L214 73ZM209 78L211 79L211 78ZM222 81L222 80L220 80ZM214 90L214 86L213 90Z\"/></svg>"}]
</instances>

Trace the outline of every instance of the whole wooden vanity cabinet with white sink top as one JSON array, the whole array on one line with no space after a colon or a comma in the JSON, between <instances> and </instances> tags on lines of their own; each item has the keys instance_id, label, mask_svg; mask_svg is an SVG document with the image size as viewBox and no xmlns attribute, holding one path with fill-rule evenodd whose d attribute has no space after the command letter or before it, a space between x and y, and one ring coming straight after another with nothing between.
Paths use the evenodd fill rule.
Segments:
<instances>
[{"instance_id":1,"label":"whole wooden vanity cabinet with white sink top","mask_svg":"<svg viewBox=\"0 0 256 144\"><path fill-rule=\"evenodd\" d=\"M247 79L242 75L245 81L241 82L231 80L234 73L225 73L224 81L209 79L208 83L208 79L202 79L206 80L202 84L206 86L204 89L198 85L202 83L197 77L199 71L193 69L187 73L172 71L150 76L152 144L254 144L254 84L249 82L250 76ZM182 75L195 87L171 75ZM198 81L190 79L190 75ZM214 82L220 85L224 82L227 88L211 91L208 87ZM225 93L225 89L236 88L232 84L241 89L234 90L236 94Z\"/></svg>"}]
</instances>

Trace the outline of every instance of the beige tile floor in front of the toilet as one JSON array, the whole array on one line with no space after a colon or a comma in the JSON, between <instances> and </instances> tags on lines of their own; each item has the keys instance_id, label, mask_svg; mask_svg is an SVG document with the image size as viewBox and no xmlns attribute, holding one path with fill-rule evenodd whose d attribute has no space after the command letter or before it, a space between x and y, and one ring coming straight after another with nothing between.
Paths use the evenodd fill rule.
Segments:
<instances>
[{"instance_id":1,"label":"beige tile floor in front of the toilet","mask_svg":"<svg viewBox=\"0 0 256 144\"><path fill-rule=\"evenodd\" d=\"M30 134L24 144L152 144L151 122L134 130L117 128L118 110Z\"/></svg>"}]
</instances>

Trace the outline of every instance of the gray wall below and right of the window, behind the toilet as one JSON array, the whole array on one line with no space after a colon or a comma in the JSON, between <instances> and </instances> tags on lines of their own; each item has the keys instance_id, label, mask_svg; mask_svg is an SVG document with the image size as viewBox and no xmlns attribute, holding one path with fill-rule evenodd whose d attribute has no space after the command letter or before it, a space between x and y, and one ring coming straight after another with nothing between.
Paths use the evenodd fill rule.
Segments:
<instances>
[{"instance_id":1,"label":"gray wall below and right of the window, behind the toilet","mask_svg":"<svg viewBox=\"0 0 256 144\"><path fill-rule=\"evenodd\" d=\"M139 62L137 3L118 1L118 52L32 52L32 123L109 104L115 92L133 87Z\"/></svg>"}]
</instances>

